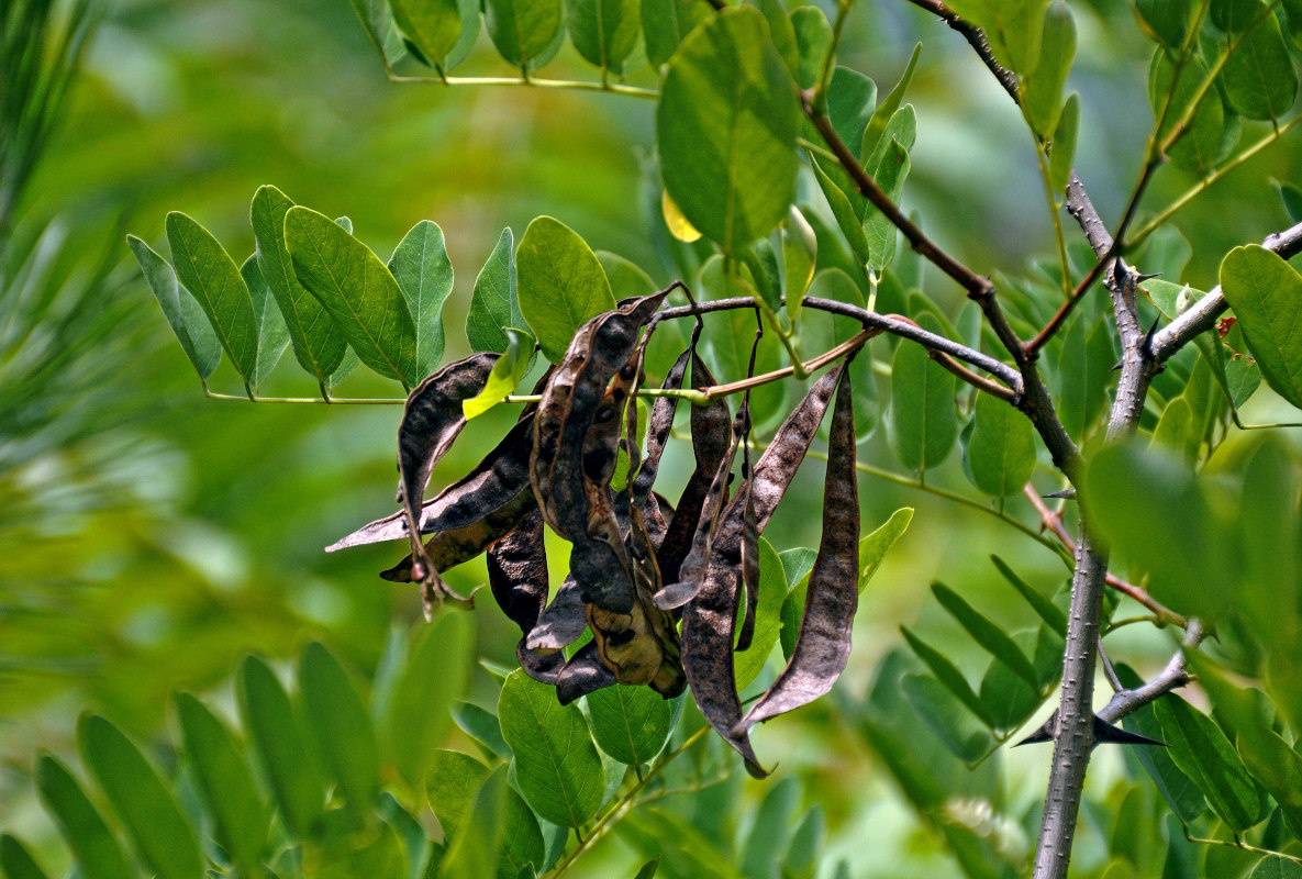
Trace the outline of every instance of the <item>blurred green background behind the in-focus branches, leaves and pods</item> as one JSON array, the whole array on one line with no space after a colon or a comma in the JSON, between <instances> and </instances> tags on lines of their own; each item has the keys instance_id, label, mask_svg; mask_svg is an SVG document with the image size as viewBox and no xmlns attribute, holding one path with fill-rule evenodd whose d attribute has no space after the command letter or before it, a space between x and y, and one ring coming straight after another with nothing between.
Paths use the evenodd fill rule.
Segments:
<instances>
[{"instance_id":1,"label":"blurred green background behind the in-focus branches, leaves and pods","mask_svg":"<svg viewBox=\"0 0 1302 879\"><path fill-rule=\"evenodd\" d=\"M833 7L823 5L831 14ZM1072 5L1079 52L1070 87L1083 99L1077 165L1112 219L1151 125L1150 44L1120 0ZM978 270L1029 273L1052 242L1031 139L966 44L906 3L865 0L848 29L844 63L884 91L922 39L909 95L919 130L906 206ZM482 34L458 73L509 72ZM546 73L591 77L568 46ZM654 82L654 74L633 79ZM400 409L204 398L124 234L161 247L165 212L181 210L240 259L253 250L249 201L262 184L350 216L381 254L418 220L435 220L457 272L444 318L452 358L466 352L470 286L505 225L518 236L530 219L549 214L595 249L634 260L656 281L672 280L647 210L652 112L651 102L599 94L391 83L342 0L107 4L13 212L14 238L43 254L23 289L44 293L22 307L12 289L8 302L0 300L0 827L43 840L59 862L30 772L39 747L76 759L72 732L82 710L105 714L167 760L169 693L186 689L229 705L227 681L241 655L288 659L311 638L368 676L391 628L422 625L413 591L375 576L401 552L322 552L392 509ZM1302 182L1295 145L1276 145L1177 217L1194 254L1180 280L1211 286L1229 247L1286 225L1271 177ZM1160 206L1191 182L1163 171L1147 203ZM957 289L930 273L924 285L950 316L957 313ZM60 356L26 369L22 352L34 345L55 345ZM264 393L310 393L289 361ZM224 363L212 387L237 392L238 379ZM396 391L358 371L341 393ZM499 434L504 418L509 413L475 423L447 473L467 469L483 447L475 438ZM881 432L863 457L900 470ZM766 534L780 550L816 540L819 467L810 464ZM668 478L674 473L685 475L681 456L668 466ZM957 453L928 482L976 499ZM878 660L898 646L901 624L937 642L957 633L928 604L931 581L961 587L988 608L1006 596L990 553L1046 591L1066 569L971 505L871 477L861 496L866 527L902 505L917 509L913 526L861 607L837 698L759 731L758 749L779 763L780 776L803 781L805 805L822 803L827 863L844 856L854 876L957 875L844 706L862 698ZM1035 521L1019 497L1008 512ZM482 560L448 577L462 591L482 578ZM479 654L513 662L510 624L491 602L474 616ZM962 639L953 642L961 652ZM1117 645L1141 669L1169 651L1167 635L1147 629ZM487 702L493 693L490 676L477 672L471 698ZM1014 803L1010 811L1038 806L1046 760L1047 751L1035 749L1000 758L991 777ZM1105 789L1115 771L1104 757L1090 784ZM750 806L772 783L740 775L728 796L747 807L728 832L743 835ZM1091 822L1086 814L1078 849L1086 865L1099 857L1105 832ZM1030 845L1017 827L992 826L990 833L1008 846ZM634 869L633 854L612 840L574 872Z\"/></svg>"}]
</instances>

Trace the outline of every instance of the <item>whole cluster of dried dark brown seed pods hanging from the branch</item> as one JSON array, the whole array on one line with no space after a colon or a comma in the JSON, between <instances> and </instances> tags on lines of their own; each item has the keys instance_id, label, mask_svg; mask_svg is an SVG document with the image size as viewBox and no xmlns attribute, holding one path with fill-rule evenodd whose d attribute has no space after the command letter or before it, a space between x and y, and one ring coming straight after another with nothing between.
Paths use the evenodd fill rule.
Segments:
<instances>
[{"instance_id":1,"label":"whole cluster of dried dark brown seed pods hanging from the branch","mask_svg":"<svg viewBox=\"0 0 1302 879\"><path fill-rule=\"evenodd\" d=\"M381 577L419 583L427 607L467 603L439 572L487 552L492 595L522 633L519 664L556 686L562 703L617 682L647 685L665 698L690 686L711 725L763 776L750 727L827 693L849 656L859 533L853 391L842 361L814 383L755 462L746 400L736 415L721 397L694 405L695 470L671 507L654 484L678 401L656 398L644 457L634 404L667 293L625 301L583 324L539 380L540 402L525 408L470 474L428 501L431 473L465 427L461 404L483 389L497 356L474 354L422 382L398 431L402 509L329 550L408 538L411 553ZM680 389L689 369L694 387L715 384L697 356L699 329L664 388ZM799 635L786 668L742 714L733 652L747 650L754 633L759 535L829 404L823 538ZM615 490L621 451L629 466ZM738 453L742 481L733 490ZM555 596L544 522L573 544L570 573ZM591 641L566 659L564 649L586 629Z\"/></svg>"}]
</instances>

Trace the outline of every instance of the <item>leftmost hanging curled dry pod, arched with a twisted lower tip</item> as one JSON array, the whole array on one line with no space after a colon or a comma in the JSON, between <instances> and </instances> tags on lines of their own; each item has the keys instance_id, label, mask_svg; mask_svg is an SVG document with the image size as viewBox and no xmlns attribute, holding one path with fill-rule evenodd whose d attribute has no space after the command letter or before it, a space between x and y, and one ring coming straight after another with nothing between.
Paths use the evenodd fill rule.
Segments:
<instances>
[{"instance_id":1,"label":"leftmost hanging curled dry pod, arched with a twisted lower tip","mask_svg":"<svg viewBox=\"0 0 1302 879\"><path fill-rule=\"evenodd\" d=\"M402 513L411 538L415 579L426 579L430 560L421 546L419 509L434 465L447 454L452 441L466 426L461 404L478 395L500 354L482 352L427 378L408 396L398 427L398 473L401 474Z\"/></svg>"}]
</instances>

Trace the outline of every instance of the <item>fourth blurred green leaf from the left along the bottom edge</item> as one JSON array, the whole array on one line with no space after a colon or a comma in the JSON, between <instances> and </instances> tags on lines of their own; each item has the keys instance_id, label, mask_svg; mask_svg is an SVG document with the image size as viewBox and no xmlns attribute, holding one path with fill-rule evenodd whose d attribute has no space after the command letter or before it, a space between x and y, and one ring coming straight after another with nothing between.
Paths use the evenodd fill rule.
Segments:
<instances>
[{"instance_id":1,"label":"fourth blurred green leaf from the left along the bottom edge","mask_svg":"<svg viewBox=\"0 0 1302 879\"><path fill-rule=\"evenodd\" d=\"M176 695L176 716L214 836L242 872L254 875L271 816L249 764L227 725L189 693Z\"/></svg>"}]
</instances>

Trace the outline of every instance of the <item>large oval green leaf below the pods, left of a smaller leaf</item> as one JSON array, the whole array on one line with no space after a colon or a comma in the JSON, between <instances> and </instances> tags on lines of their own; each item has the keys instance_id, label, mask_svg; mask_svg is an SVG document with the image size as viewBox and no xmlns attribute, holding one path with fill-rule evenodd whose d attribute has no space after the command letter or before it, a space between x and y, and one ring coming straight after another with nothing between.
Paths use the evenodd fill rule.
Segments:
<instances>
[{"instance_id":1,"label":"large oval green leaf below the pods, left of a smaller leaf","mask_svg":"<svg viewBox=\"0 0 1302 879\"><path fill-rule=\"evenodd\" d=\"M503 684L497 715L525 800L553 824L581 827L600 805L605 779L578 706L561 706L552 688L517 669Z\"/></svg>"}]
</instances>

